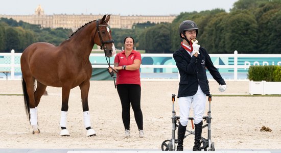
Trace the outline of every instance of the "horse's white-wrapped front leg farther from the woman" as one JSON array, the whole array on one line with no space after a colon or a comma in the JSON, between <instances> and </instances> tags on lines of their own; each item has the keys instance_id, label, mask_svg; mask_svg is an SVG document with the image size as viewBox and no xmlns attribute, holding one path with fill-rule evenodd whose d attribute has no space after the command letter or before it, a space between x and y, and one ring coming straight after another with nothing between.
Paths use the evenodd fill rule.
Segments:
<instances>
[{"instance_id":1,"label":"horse's white-wrapped front leg farther from the woman","mask_svg":"<svg viewBox=\"0 0 281 153\"><path fill-rule=\"evenodd\" d=\"M68 111L68 98L71 88L62 87L62 104L61 104L61 115L60 115L60 136L69 136L69 132L66 129L67 111Z\"/></svg>"}]
</instances>

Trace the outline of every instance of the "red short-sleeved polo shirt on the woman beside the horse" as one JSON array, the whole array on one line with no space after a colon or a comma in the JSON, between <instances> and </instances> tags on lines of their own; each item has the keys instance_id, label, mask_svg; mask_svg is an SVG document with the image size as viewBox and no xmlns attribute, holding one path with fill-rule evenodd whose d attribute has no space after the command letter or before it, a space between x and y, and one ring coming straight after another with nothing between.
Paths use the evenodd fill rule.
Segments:
<instances>
[{"instance_id":1,"label":"red short-sleeved polo shirt on the woman beside the horse","mask_svg":"<svg viewBox=\"0 0 281 153\"><path fill-rule=\"evenodd\" d=\"M119 63L118 66L123 65L131 65L134 63L134 60L140 60L142 62L142 57L140 56L140 53L136 52L135 50L132 50L132 53L126 58L125 56L125 50L123 52L120 52L116 54L114 63ZM118 78L116 79L116 85L119 84L137 84L140 85L140 73L138 70L119 70L119 75L117 75Z\"/></svg>"}]
</instances>

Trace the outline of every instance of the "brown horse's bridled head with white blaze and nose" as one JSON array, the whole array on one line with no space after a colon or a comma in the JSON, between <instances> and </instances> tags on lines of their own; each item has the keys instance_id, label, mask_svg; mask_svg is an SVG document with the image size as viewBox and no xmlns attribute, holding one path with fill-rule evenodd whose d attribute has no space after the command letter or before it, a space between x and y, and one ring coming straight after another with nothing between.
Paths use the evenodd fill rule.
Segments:
<instances>
[{"instance_id":1,"label":"brown horse's bridled head with white blaze and nose","mask_svg":"<svg viewBox=\"0 0 281 153\"><path fill-rule=\"evenodd\" d=\"M112 57L116 51L111 38L111 30L107 24L109 19L110 15L104 15L102 19L96 21L98 35L95 35L95 40L97 40L95 42L104 50L105 56Z\"/></svg>"}]
</instances>

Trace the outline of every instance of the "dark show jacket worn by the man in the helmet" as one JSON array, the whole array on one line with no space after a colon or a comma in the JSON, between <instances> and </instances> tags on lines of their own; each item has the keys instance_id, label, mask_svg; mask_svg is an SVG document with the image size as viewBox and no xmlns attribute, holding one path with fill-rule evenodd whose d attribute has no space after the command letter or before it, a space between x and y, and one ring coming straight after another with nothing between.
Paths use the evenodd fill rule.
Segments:
<instances>
[{"instance_id":1,"label":"dark show jacket worn by the man in the helmet","mask_svg":"<svg viewBox=\"0 0 281 153\"><path fill-rule=\"evenodd\" d=\"M197 57L190 56L182 46L173 54L180 74L178 97L195 95L200 85L202 91L209 95L209 85L206 69L209 70L213 78L220 84L226 85L220 72L214 66L205 48L200 47Z\"/></svg>"}]
</instances>

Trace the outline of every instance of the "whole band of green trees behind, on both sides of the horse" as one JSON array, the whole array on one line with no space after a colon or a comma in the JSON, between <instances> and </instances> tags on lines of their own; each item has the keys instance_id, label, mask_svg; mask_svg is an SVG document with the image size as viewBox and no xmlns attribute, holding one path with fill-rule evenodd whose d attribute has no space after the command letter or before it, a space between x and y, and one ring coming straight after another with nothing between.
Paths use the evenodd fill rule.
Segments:
<instances>
[{"instance_id":1,"label":"whole band of green trees behind, on both sides of the horse","mask_svg":"<svg viewBox=\"0 0 281 153\"><path fill-rule=\"evenodd\" d=\"M131 36L137 49L146 53L172 53L180 46L179 24L197 23L199 44L212 54L238 50L247 54L281 53L281 1L239 0L227 13L222 9L182 12L172 23L135 23L132 29L111 29L115 47L122 49L124 38ZM36 41L59 45L72 33L69 29L41 28L13 19L0 19L0 52L19 49ZM11 38L12 36L12 38Z\"/></svg>"}]
</instances>

